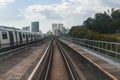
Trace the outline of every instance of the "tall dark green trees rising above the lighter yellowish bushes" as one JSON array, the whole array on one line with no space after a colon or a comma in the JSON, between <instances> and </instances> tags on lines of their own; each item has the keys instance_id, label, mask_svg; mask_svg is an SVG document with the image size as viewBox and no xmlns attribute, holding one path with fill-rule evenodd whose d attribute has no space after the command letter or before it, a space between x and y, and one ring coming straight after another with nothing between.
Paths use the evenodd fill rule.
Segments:
<instances>
[{"instance_id":1,"label":"tall dark green trees rising above the lighter yellowish bushes","mask_svg":"<svg viewBox=\"0 0 120 80\"><path fill-rule=\"evenodd\" d=\"M111 13L111 14L110 14ZM87 18L83 22L88 30L99 33L116 33L120 30L120 10L111 10L108 13L96 13L94 18Z\"/></svg>"}]
</instances>

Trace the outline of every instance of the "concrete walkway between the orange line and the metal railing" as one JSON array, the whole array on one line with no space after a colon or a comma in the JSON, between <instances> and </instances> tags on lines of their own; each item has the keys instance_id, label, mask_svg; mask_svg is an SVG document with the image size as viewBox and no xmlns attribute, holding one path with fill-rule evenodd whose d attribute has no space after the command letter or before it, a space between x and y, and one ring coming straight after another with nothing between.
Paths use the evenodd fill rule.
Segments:
<instances>
[{"instance_id":1,"label":"concrete walkway between the orange line and the metal railing","mask_svg":"<svg viewBox=\"0 0 120 80\"><path fill-rule=\"evenodd\" d=\"M65 41L60 39L62 42L79 52L79 54L82 54L86 56L88 59L92 60L94 63L96 63L99 67L101 67L106 73L111 74L113 77L117 78L117 80L120 80L120 68L111 62L107 60L103 60L101 57L94 55L88 50L85 50L81 48L79 45ZM119 64L118 64L119 65Z\"/></svg>"}]
</instances>

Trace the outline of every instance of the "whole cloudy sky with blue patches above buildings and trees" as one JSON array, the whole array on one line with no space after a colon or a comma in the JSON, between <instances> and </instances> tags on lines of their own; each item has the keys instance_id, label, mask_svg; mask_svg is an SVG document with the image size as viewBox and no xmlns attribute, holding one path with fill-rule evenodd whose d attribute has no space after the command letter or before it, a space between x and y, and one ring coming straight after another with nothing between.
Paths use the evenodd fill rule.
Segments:
<instances>
[{"instance_id":1,"label":"whole cloudy sky with blue patches above buildings and trees","mask_svg":"<svg viewBox=\"0 0 120 80\"><path fill-rule=\"evenodd\" d=\"M81 25L88 17L108 9L120 8L119 0L0 0L0 25L30 26L39 21L40 30L51 30L52 23L70 28Z\"/></svg>"}]
</instances>

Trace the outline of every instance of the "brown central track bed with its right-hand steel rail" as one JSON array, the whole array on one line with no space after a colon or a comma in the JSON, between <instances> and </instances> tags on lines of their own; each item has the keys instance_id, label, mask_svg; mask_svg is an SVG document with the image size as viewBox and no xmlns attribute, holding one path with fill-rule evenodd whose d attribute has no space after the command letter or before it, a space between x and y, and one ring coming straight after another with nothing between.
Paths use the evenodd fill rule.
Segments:
<instances>
[{"instance_id":1,"label":"brown central track bed with its right-hand steel rail","mask_svg":"<svg viewBox=\"0 0 120 80\"><path fill-rule=\"evenodd\" d=\"M47 80L76 80L72 65L59 43L53 43L53 59Z\"/></svg>"}]
</instances>

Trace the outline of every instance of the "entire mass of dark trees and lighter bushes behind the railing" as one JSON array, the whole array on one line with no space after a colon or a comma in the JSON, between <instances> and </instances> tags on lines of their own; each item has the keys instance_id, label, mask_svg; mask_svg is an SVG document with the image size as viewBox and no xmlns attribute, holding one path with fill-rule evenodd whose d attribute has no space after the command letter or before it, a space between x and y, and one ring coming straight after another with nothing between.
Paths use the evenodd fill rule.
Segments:
<instances>
[{"instance_id":1,"label":"entire mass of dark trees and lighter bushes behind the railing","mask_svg":"<svg viewBox=\"0 0 120 80\"><path fill-rule=\"evenodd\" d=\"M73 26L69 35L74 38L119 42L117 37L108 35L116 32L120 32L120 10L113 8L111 12L96 13L94 18L87 18L81 26Z\"/></svg>"}]
</instances>

